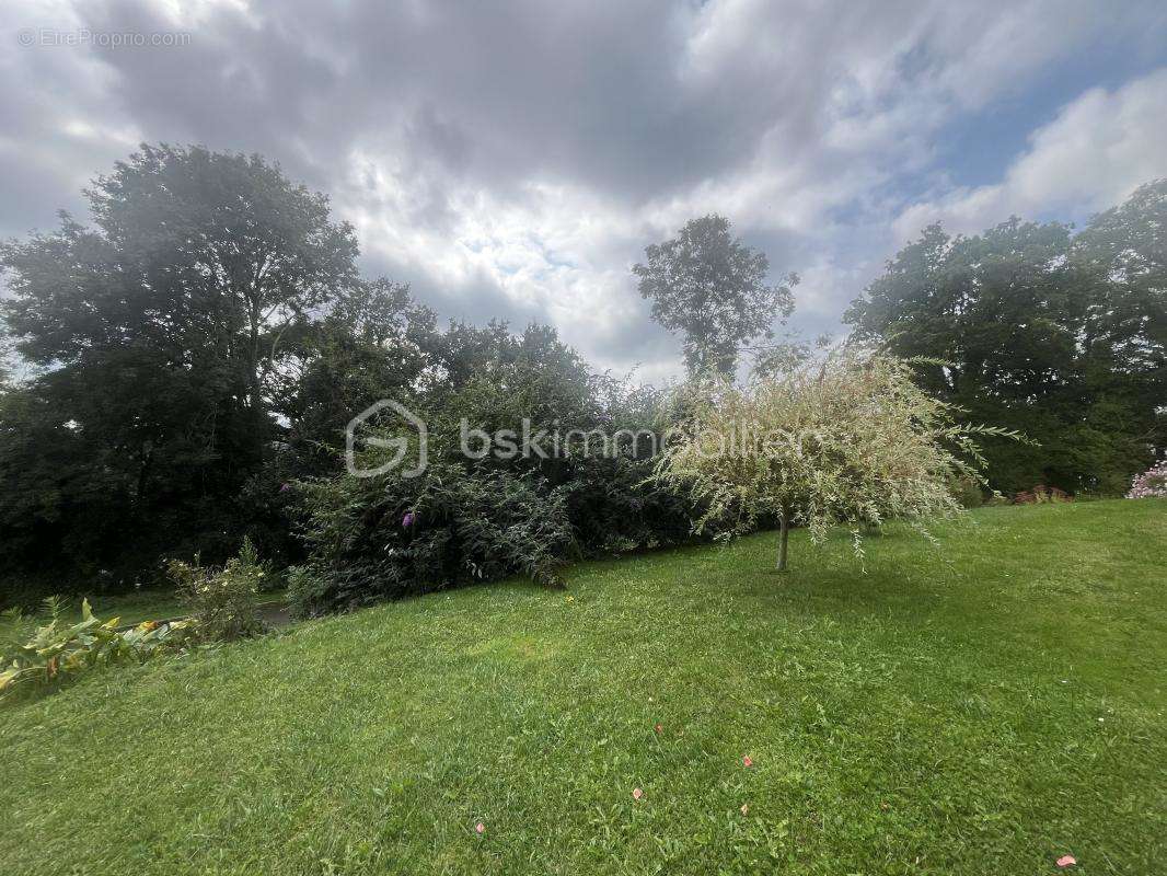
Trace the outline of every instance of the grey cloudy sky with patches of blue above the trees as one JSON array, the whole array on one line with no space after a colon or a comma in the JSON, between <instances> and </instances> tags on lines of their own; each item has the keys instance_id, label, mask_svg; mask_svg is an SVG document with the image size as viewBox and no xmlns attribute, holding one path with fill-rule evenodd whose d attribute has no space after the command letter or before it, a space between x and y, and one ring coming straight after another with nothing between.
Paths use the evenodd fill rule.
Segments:
<instances>
[{"instance_id":1,"label":"grey cloudy sky with patches of blue above the trees","mask_svg":"<svg viewBox=\"0 0 1167 876\"><path fill-rule=\"evenodd\" d=\"M693 216L798 271L815 334L928 222L1082 221L1167 175L1158 0L0 11L0 236L83 214L141 141L259 152L331 196L368 273L443 317L553 322L650 380L679 343L629 267Z\"/></svg>"}]
</instances>

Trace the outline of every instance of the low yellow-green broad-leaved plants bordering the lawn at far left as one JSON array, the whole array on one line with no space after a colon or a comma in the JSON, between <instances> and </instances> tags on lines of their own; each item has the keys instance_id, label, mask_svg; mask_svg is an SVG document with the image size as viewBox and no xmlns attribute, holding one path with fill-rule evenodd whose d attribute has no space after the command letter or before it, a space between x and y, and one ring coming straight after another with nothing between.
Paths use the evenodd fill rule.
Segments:
<instances>
[{"instance_id":1,"label":"low yellow-green broad-leaved plants bordering the lawn at far left","mask_svg":"<svg viewBox=\"0 0 1167 876\"><path fill-rule=\"evenodd\" d=\"M50 612L49 623L27 638L25 633L32 626L28 619L20 611L6 613L0 697L55 690L103 666L145 662L180 649L197 630L193 621L159 624L151 620L119 631L119 618L100 621L93 617L88 599L82 602L81 620L67 624L60 599L49 598L46 605Z\"/></svg>"}]
</instances>

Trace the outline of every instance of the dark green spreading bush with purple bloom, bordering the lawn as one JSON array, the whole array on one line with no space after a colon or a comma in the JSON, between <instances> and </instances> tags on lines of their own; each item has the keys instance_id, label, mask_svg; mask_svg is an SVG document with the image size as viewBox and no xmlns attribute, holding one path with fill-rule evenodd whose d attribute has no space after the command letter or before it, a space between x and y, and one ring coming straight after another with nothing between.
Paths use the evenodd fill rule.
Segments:
<instances>
[{"instance_id":1,"label":"dark green spreading bush with purple bloom, bordering the lawn","mask_svg":"<svg viewBox=\"0 0 1167 876\"><path fill-rule=\"evenodd\" d=\"M509 575L551 584L573 548L565 492L533 475L439 459L412 479L300 486L312 555L288 596L301 616Z\"/></svg>"}]
</instances>

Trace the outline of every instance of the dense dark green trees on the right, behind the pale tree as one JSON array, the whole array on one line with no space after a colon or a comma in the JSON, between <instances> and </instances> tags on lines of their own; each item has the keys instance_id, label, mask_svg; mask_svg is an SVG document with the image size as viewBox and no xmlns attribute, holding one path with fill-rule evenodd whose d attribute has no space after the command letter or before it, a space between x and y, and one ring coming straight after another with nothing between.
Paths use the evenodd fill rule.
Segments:
<instances>
[{"instance_id":1,"label":"dense dark green trees on the right, behind the pale tree","mask_svg":"<svg viewBox=\"0 0 1167 876\"><path fill-rule=\"evenodd\" d=\"M1018 218L973 237L931 225L847 321L937 360L921 385L973 419L1034 439L986 440L994 487L1118 495L1167 444L1167 181L1076 234Z\"/></svg>"}]
</instances>

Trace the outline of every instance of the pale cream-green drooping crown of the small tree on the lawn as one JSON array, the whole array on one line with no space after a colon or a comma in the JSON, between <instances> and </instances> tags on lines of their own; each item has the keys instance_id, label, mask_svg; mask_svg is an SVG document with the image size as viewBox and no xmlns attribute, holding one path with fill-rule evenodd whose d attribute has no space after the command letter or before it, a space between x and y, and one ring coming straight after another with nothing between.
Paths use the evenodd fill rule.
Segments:
<instances>
[{"instance_id":1,"label":"pale cream-green drooping crown of the small tree on the lawn","mask_svg":"<svg viewBox=\"0 0 1167 876\"><path fill-rule=\"evenodd\" d=\"M959 409L913 381L913 362L837 350L749 385L686 387L690 416L673 431L655 478L689 489L706 508L697 531L733 535L760 519L780 526L777 571L787 570L791 526L819 543L837 527L862 533L903 520L923 535L932 520L964 512L953 487L984 487L977 438L1019 438L962 424Z\"/></svg>"}]
</instances>

